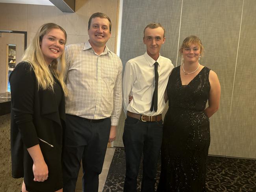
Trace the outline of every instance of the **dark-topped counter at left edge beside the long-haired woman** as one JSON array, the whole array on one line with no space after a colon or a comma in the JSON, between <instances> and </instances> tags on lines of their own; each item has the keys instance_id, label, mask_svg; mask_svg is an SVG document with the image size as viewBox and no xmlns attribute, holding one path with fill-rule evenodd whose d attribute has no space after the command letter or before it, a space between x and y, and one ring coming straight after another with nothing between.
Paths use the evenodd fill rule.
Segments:
<instances>
[{"instance_id":1,"label":"dark-topped counter at left edge beside the long-haired woman","mask_svg":"<svg viewBox=\"0 0 256 192\"><path fill-rule=\"evenodd\" d=\"M11 95L0 93L0 191L20 192L22 179L11 177Z\"/></svg>"}]
</instances>

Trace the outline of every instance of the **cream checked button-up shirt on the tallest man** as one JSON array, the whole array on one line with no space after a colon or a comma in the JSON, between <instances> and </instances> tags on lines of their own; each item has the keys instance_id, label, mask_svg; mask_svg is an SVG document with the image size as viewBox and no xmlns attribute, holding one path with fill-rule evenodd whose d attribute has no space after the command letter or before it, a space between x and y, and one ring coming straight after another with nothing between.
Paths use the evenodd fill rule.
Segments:
<instances>
[{"instance_id":1,"label":"cream checked button-up shirt on the tallest man","mask_svg":"<svg viewBox=\"0 0 256 192\"><path fill-rule=\"evenodd\" d=\"M66 113L87 119L111 117L117 126L122 110L122 62L106 46L97 55L89 41L66 47Z\"/></svg>"}]
</instances>

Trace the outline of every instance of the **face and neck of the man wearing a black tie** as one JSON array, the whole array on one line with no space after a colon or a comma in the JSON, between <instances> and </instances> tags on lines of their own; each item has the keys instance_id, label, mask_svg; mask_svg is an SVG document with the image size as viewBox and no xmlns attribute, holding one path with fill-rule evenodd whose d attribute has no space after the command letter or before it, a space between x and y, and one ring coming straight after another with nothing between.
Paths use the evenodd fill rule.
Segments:
<instances>
[{"instance_id":1,"label":"face and neck of the man wearing a black tie","mask_svg":"<svg viewBox=\"0 0 256 192\"><path fill-rule=\"evenodd\" d=\"M147 46L147 53L155 61L159 57L159 52L162 44L165 42L165 37L163 37L164 31L163 28L146 28L143 42Z\"/></svg>"}]
</instances>

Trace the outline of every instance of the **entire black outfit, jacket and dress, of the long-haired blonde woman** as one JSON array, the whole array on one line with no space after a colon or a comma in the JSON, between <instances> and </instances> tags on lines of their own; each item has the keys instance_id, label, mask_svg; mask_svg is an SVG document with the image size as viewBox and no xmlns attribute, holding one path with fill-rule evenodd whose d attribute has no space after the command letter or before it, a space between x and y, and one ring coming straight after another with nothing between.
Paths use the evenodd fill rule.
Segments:
<instances>
[{"instance_id":1,"label":"entire black outfit, jacket and dress, of the long-haired blonde woman","mask_svg":"<svg viewBox=\"0 0 256 192\"><path fill-rule=\"evenodd\" d=\"M54 192L63 187L61 152L65 128L65 97L55 79L54 91L38 89L30 64L19 63L9 78L11 85L12 176L24 177L29 192ZM40 145L48 166L48 179L33 181L33 160L27 148Z\"/></svg>"}]
</instances>

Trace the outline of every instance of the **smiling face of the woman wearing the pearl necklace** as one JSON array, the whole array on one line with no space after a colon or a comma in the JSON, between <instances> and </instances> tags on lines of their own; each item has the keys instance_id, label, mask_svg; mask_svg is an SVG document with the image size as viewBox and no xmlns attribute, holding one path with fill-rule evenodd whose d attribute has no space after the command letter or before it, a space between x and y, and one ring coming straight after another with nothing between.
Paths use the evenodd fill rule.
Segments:
<instances>
[{"instance_id":1,"label":"smiling face of the woman wearing the pearl necklace","mask_svg":"<svg viewBox=\"0 0 256 192\"><path fill-rule=\"evenodd\" d=\"M190 44L182 49L182 55L184 58L184 63L195 63L198 62L200 57L201 48L197 44Z\"/></svg>"}]
</instances>

